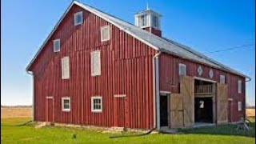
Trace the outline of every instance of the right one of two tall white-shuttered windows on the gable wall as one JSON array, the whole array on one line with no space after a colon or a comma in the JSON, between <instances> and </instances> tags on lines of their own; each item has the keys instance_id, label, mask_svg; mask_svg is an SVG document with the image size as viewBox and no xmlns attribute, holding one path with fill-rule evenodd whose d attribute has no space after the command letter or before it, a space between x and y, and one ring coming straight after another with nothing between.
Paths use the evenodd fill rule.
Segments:
<instances>
[{"instance_id":1,"label":"right one of two tall white-shuttered windows on the gable wall","mask_svg":"<svg viewBox=\"0 0 256 144\"><path fill-rule=\"evenodd\" d=\"M91 75L97 76L101 75L101 52L93 51L90 53L90 66L91 66Z\"/></svg>"}]
</instances>

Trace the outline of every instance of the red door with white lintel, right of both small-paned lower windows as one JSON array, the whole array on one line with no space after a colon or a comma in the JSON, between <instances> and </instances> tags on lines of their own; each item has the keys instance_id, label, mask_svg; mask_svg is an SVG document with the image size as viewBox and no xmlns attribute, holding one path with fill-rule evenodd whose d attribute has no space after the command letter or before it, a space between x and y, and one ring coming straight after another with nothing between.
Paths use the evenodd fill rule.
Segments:
<instances>
[{"instance_id":1,"label":"red door with white lintel, right of both small-paned lower windows","mask_svg":"<svg viewBox=\"0 0 256 144\"><path fill-rule=\"evenodd\" d=\"M114 126L128 127L128 108L127 98L125 95L115 95L114 97Z\"/></svg>"}]
</instances>

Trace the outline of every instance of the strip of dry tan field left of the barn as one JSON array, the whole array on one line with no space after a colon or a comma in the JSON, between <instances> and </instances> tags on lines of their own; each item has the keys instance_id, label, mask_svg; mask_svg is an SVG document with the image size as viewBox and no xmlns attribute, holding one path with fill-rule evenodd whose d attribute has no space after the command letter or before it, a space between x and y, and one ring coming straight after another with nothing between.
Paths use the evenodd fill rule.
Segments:
<instances>
[{"instance_id":1,"label":"strip of dry tan field left of the barn","mask_svg":"<svg viewBox=\"0 0 256 144\"><path fill-rule=\"evenodd\" d=\"M1 118L31 117L32 107L1 107Z\"/></svg>"}]
</instances>

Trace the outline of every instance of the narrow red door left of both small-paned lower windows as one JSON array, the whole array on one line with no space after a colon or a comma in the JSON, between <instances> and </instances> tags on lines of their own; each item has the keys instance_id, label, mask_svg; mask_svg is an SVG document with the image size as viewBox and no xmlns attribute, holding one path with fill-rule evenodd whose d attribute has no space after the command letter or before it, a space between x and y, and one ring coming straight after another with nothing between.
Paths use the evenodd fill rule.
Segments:
<instances>
[{"instance_id":1,"label":"narrow red door left of both small-paned lower windows","mask_svg":"<svg viewBox=\"0 0 256 144\"><path fill-rule=\"evenodd\" d=\"M54 122L54 99L46 97L46 122Z\"/></svg>"}]
</instances>

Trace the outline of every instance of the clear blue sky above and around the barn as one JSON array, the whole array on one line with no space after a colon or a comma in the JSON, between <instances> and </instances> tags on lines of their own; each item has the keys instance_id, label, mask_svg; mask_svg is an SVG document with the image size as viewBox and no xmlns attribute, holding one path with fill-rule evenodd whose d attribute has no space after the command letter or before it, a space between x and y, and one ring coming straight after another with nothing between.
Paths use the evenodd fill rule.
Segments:
<instances>
[{"instance_id":1,"label":"clear blue sky above and around the barn","mask_svg":"<svg viewBox=\"0 0 256 144\"><path fill-rule=\"evenodd\" d=\"M1 104L31 105L32 76L26 66L61 18L71 0L1 1ZM134 23L146 0L80 0ZM254 0L149 0L162 14L162 35L180 42L252 78L246 102L255 106ZM218 53L209 51L253 45Z\"/></svg>"}]
</instances>

